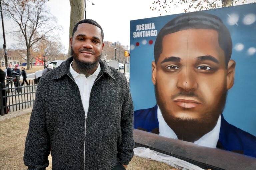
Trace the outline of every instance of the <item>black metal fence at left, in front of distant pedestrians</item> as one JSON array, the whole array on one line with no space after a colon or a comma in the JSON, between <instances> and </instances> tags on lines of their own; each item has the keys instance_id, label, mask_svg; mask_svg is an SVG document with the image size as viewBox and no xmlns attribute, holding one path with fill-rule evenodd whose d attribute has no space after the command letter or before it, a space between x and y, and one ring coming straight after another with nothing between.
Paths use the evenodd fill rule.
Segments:
<instances>
[{"instance_id":1,"label":"black metal fence at left, in front of distant pedestrians","mask_svg":"<svg viewBox=\"0 0 256 170\"><path fill-rule=\"evenodd\" d=\"M37 85L33 84L33 80L24 83L21 86L19 76L5 80L5 86L0 82L0 111L4 116L6 112L33 107ZM6 88L3 88L6 87Z\"/></svg>"}]
</instances>

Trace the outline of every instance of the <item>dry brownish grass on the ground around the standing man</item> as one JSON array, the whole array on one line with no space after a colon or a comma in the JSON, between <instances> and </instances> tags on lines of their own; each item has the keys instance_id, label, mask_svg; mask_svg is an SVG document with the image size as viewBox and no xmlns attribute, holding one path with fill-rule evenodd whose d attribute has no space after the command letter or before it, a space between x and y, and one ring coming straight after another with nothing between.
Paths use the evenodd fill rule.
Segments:
<instances>
[{"instance_id":1,"label":"dry brownish grass on the ground around the standing man","mask_svg":"<svg viewBox=\"0 0 256 170\"><path fill-rule=\"evenodd\" d=\"M38 66L34 66L38 67ZM30 113L0 121L0 170L25 170L23 163L24 145L29 126ZM51 156L49 167L52 169ZM175 168L161 162L134 156L127 170L175 170Z\"/></svg>"}]
</instances>

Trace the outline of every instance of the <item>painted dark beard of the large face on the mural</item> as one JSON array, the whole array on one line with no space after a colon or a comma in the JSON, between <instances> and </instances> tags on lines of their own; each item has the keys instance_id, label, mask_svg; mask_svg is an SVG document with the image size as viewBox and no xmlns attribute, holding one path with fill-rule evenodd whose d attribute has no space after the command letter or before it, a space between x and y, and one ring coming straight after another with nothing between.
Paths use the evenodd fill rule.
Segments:
<instances>
[{"instance_id":1,"label":"painted dark beard of the large face on the mural","mask_svg":"<svg viewBox=\"0 0 256 170\"><path fill-rule=\"evenodd\" d=\"M185 92L180 93L184 95ZM187 92L186 96L188 96L188 94L191 97L193 96L193 92ZM164 103L166 102L158 95L157 83L155 85L155 96L165 122L175 132L178 139L195 142L216 126L218 118L225 107L227 90L223 90L222 96L216 107L210 112L203 113L203 116L199 119L175 117L170 110L165 108ZM171 100L171 97L169 100Z\"/></svg>"}]
</instances>

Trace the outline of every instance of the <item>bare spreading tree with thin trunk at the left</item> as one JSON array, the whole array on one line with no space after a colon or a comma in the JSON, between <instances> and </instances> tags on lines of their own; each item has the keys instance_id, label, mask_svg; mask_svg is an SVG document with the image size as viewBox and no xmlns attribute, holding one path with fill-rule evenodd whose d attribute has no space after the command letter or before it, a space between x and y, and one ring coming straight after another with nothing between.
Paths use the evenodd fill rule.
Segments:
<instances>
[{"instance_id":1,"label":"bare spreading tree with thin trunk at the left","mask_svg":"<svg viewBox=\"0 0 256 170\"><path fill-rule=\"evenodd\" d=\"M6 17L17 24L13 31L22 38L21 42L27 51L27 69L30 69L31 50L33 45L40 40L53 37L52 33L59 29L56 19L47 10L44 3L47 0L4 0Z\"/></svg>"}]
</instances>

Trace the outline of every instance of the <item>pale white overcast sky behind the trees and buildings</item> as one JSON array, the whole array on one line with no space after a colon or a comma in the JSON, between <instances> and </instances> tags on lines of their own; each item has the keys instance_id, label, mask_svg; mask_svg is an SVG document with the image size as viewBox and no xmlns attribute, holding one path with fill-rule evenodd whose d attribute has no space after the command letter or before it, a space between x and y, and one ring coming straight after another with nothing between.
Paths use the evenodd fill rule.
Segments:
<instances>
[{"instance_id":1,"label":"pale white overcast sky behind the trees and buildings","mask_svg":"<svg viewBox=\"0 0 256 170\"><path fill-rule=\"evenodd\" d=\"M150 9L153 0L90 0L90 2L86 0L86 18L93 19L101 25L104 31L104 41L119 41L121 45L129 45L130 43L130 20L160 16L159 12ZM62 26L62 31L59 32L59 35L62 44L65 46L65 51L68 52L69 0L49 0L47 6L57 18L57 24ZM175 8L172 14L174 13L182 13L182 10ZM11 26L12 23L10 21L4 20L7 49L11 48L12 44L15 44L12 35L8 34ZM3 44L2 26L0 44ZM2 48L2 45L0 48Z\"/></svg>"}]
</instances>

